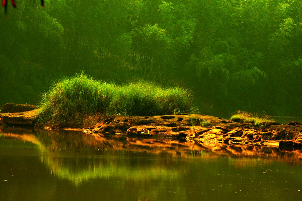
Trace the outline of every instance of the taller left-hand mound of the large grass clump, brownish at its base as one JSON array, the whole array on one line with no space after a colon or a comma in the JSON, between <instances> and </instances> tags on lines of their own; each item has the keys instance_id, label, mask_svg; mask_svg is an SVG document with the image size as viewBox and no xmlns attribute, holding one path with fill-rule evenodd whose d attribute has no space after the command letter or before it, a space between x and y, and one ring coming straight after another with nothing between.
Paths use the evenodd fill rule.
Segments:
<instances>
[{"instance_id":1,"label":"taller left-hand mound of the large grass clump, brownish at its base","mask_svg":"<svg viewBox=\"0 0 302 201\"><path fill-rule=\"evenodd\" d=\"M42 124L81 126L84 117L105 113L114 96L112 83L95 81L83 72L54 83L43 94L38 120Z\"/></svg>"}]
</instances>

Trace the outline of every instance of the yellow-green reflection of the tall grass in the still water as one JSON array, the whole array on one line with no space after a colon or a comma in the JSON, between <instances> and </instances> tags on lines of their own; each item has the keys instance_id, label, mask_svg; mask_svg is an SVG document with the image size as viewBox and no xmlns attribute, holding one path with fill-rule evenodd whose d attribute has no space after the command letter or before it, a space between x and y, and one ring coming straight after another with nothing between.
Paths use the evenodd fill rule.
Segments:
<instances>
[{"instance_id":1,"label":"yellow-green reflection of the tall grass in the still water","mask_svg":"<svg viewBox=\"0 0 302 201\"><path fill-rule=\"evenodd\" d=\"M49 156L41 157L41 162L60 179L67 179L76 186L96 178L124 178L126 180L144 181L154 178L176 180L179 177L178 172L181 171L181 168L179 168L180 170L170 170L163 167L160 160L154 160L153 163L148 163L148 166L143 164L133 166L133 164L129 164L133 160L123 156L123 152L120 152L122 155L117 157L118 153L108 151L100 158L77 157L70 159L68 157Z\"/></svg>"}]
</instances>

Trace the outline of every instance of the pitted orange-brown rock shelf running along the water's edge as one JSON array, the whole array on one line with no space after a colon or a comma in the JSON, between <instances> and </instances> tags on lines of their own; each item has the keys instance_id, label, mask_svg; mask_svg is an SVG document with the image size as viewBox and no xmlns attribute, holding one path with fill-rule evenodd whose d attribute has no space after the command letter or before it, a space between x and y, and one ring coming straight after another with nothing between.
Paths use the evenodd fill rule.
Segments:
<instances>
[{"instance_id":1,"label":"pitted orange-brown rock shelf running along the water's edge","mask_svg":"<svg viewBox=\"0 0 302 201\"><path fill-rule=\"evenodd\" d=\"M15 104L22 108L21 105ZM36 126L38 109L16 112L16 107L10 104L11 110L2 114L3 124ZM28 106L26 106L28 107ZM203 122L207 126L202 126ZM1 122L1 120L0 120ZM56 129L45 127L45 129ZM57 128L58 129L58 128ZM77 129L94 135L118 134L137 136L146 139L180 139L198 144L220 144L228 146L260 145L279 147L280 150L302 151L302 124L289 122L288 124L254 125L236 123L231 120L198 114L162 115L162 116L134 116L124 117L111 115L102 117L90 128Z\"/></svg>"}]
</instances>

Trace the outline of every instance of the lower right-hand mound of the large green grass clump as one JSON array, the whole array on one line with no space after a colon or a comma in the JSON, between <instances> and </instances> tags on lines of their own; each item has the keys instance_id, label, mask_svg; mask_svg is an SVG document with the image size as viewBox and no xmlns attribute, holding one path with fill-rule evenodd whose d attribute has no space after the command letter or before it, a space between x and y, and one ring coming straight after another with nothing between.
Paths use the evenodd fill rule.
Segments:
<instances>
[{"instance_id":1,"label":"lower right-hand mound of the large green grass clump","mask_svg":"<svg viewBox=\"0 0 302 201\"><path fill-rule=\"evenodd\" d=\"M140 81L119 87L110 104L110 114L146 116L189 113L193 99L187 90L174 87L162 89L156 84Z\"/></svg>"}]
</instances>

